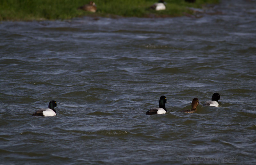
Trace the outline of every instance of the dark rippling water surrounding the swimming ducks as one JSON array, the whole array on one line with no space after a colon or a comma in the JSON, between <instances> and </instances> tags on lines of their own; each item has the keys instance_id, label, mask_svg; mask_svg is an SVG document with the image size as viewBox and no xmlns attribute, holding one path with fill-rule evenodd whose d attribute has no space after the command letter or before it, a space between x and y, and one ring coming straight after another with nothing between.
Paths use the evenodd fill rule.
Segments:
<instances>
[{"instance_id":1,"label":"dark rippling water surrounding the swimming ducks","mask_svg":"<svg viewBox=\"0 0 256 165\"><path fill-rule=\"evenodd\" d=\"M1 164L254 164L256 2L207 11L1 22Z\"/></svg>"}]
</instances>

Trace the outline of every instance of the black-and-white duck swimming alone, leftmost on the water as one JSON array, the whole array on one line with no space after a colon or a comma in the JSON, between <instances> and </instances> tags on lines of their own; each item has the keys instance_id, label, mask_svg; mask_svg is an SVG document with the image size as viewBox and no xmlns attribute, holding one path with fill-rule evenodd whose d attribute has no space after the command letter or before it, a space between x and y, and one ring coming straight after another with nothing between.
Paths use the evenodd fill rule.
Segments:
<instances>
[{"instance_id":1,"label":"black-and-white duck swimming alone, leftmost on the water","mask_svg":"<svg viewBox=\"0 0 256 165\"><path fill-rule=\"evenodd\" d=\"M54 110L54 107L57 107L57 103L52 100L50 101L48 108L38 109L32 116L55 116L57 113Z\"/></svg>"}]
</instances>

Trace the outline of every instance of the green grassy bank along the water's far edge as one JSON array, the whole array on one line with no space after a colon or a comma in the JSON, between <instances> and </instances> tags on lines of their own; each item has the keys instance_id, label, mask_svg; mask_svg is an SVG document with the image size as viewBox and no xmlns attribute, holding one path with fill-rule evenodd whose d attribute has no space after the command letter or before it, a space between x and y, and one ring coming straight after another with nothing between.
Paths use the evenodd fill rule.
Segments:
<instances>
[{"instance_id":1,"label":"green grassy bank along the water's far edge","mask_svg":"<svg viewBox=\"0 0 256 165\"><path fill-rule=\"evenodd\" d=\"M77 10L90 0L1 0L0 20L56 20L81 16L102 17L175 17L193 12L187 7L201 8L204 4L219 0L166 0L165 11L153 11L149 7L158 0L94 0L97 12Z\"/></svg>"}]
</instances>

